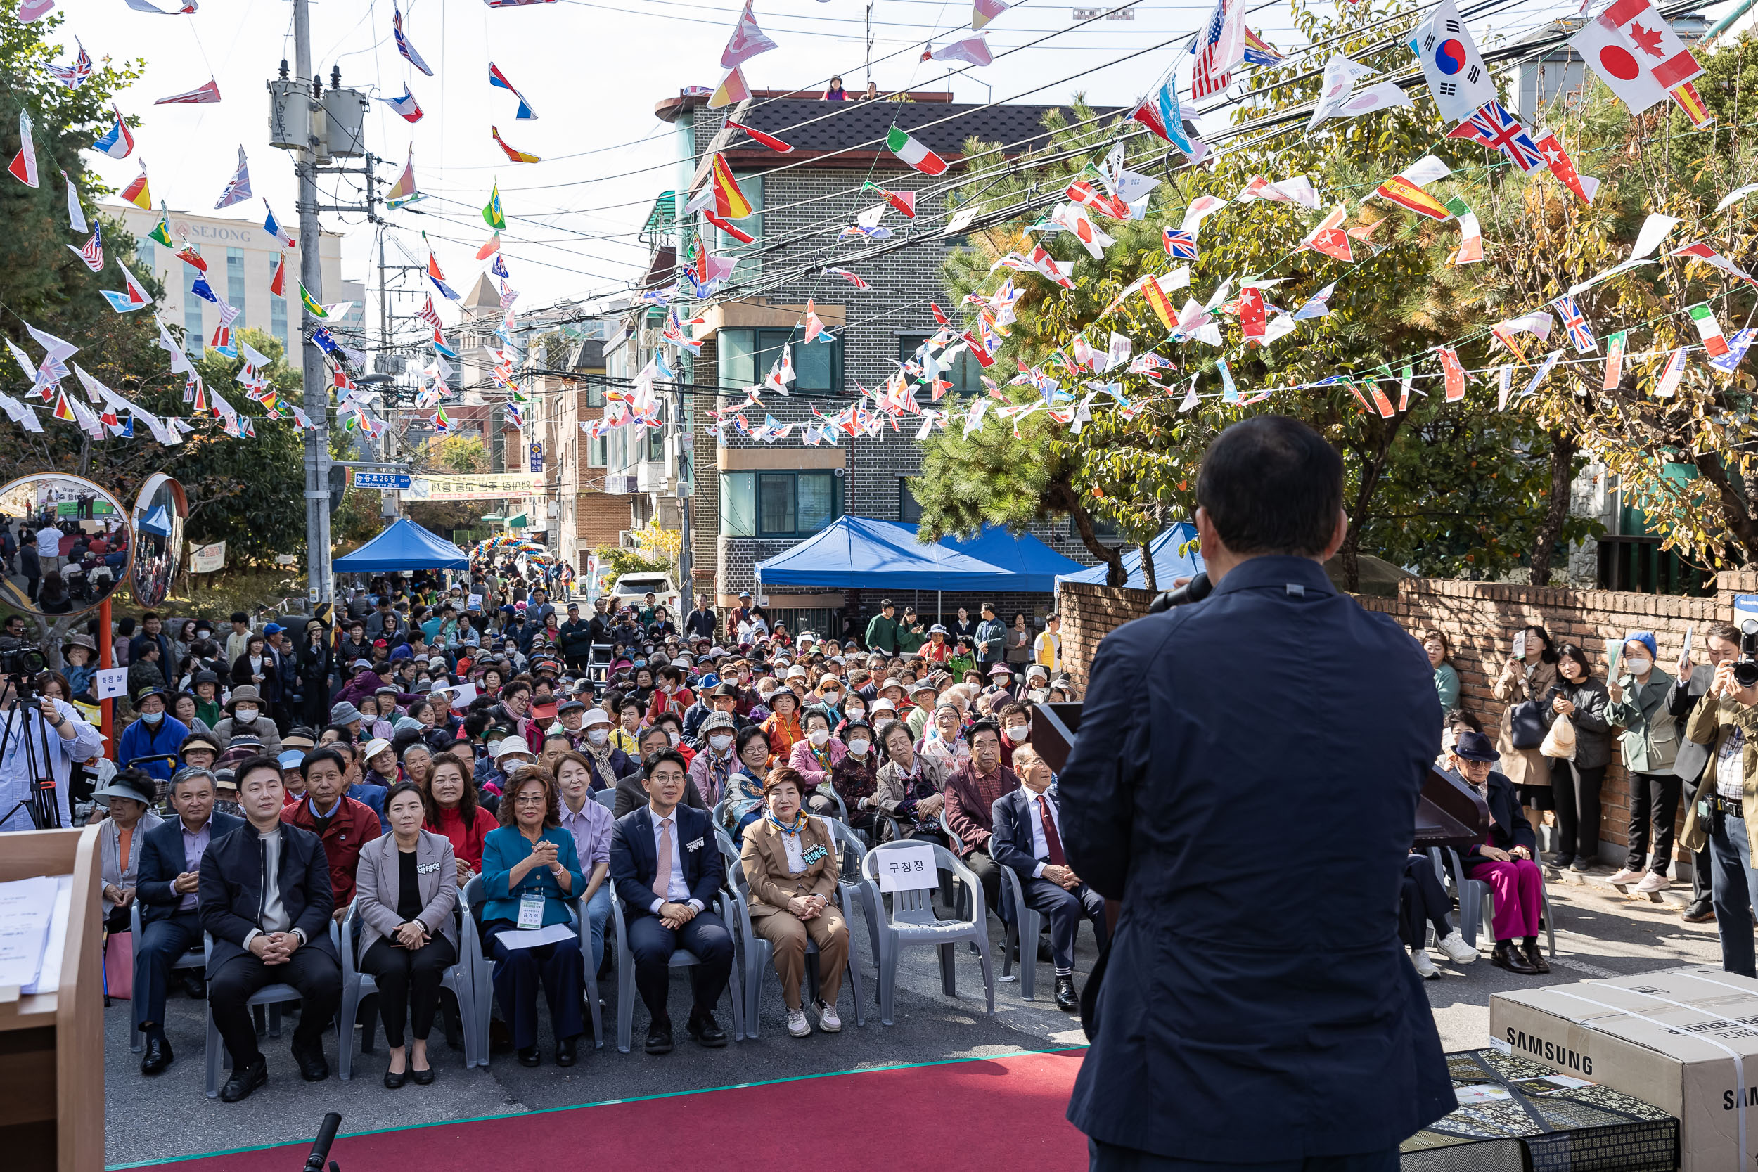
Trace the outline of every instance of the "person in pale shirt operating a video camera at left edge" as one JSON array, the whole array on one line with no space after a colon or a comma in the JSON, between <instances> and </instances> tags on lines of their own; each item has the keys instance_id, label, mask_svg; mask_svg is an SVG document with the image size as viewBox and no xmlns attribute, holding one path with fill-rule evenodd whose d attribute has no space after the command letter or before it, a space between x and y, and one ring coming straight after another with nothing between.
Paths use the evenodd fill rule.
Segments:
<instances>
[{"instance_id":1,"label":"person in pale shirt operating a video camera at left edge","mask_svg":"<svg viewBox=\"0 0 1758 1172\"><path fill-rule=\"evenodd\" d=\"M72 826L67 775L104 752L77 708L32 691L44 666L30 648L0 654L0 831Z\"/></svg>"}]
</instances>

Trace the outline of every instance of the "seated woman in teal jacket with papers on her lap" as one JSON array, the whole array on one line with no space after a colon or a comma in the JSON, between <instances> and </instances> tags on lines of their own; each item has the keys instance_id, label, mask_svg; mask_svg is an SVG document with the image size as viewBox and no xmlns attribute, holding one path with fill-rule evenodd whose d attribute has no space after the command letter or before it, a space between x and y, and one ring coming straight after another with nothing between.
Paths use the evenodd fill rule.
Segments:
<instances>
[{"instance_id":1,"label":"seated woman in teal jacket with papers on her lap","mask_svg":"<svg viewBox=\"0 0 1758 1172\"><path fill-rule=\"evenodd\" d=\"M482 940L494 959L494 995L513 1035L520 1067L538 1061L538 986L556 1031L556 1065L575 1063L575 1044L585 1024L585 965L573 937L536 947L517 947L519 933L577 922L573 905L585 891L580 852L561 828L556 778L541 766L526 766L506 782L501 826L482 840ZM529 903L529 914L520 912ZM508 947L513 945L513 947Z\"/></svg>"}]
</instances>

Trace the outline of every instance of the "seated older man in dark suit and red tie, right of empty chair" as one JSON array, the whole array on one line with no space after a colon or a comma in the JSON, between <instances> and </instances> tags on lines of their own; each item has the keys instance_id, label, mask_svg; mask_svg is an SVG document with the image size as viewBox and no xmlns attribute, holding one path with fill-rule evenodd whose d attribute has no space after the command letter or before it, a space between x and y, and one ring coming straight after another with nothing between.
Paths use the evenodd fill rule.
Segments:
<instances>
[{"instance_id":1,"label":"seated older man in dark suit and red tie, right of empty chair","mask_svg":"<svg viewBox=\"0 0 1758 1172\"><path fill-rule=\"evenodd\" d=\"M1020 875L1025 905L1050 917L1057 1009L1072 1014L1079 1009L1079 996L1074 993L1074 931L1085 915L1104 949L1104 898L1069 870L1062 854L1062 812L1057 808L1057 796L1050 792L1050 764L1030 745L1013 750L1013 764L1020 775L1020 789L995 799L990 854L995 863L1011 866Z\"/></svg>"}]
</instances>

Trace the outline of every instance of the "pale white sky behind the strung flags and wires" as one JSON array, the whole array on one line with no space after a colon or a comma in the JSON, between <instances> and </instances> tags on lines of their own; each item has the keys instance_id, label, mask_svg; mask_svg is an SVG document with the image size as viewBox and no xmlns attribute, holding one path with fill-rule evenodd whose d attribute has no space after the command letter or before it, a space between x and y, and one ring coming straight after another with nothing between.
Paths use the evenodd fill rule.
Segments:
<instances>
[{"instance_id":1,"label":"pale white sky behind the strung flags and wires","mask_svg":"<svg viewBox=\"0 0 1758 1172\"><path fill-rule=\"evenodd\" d=\"M313 65L325 84L332 67L341 69L345 86L374 98L401 97L406 84L424 111L415 125L383 102L371 102L367 112L367 146L390 160L380 174L394 179L413 146L417 183L427 195L387 214L389 264L425 262L425 230L448 283L468 290L487 265L475 258L490 234L480 209L498 183L508 216L503 255L522 311L626 288L647 262L635 232L675 176L672 127L654 116L654 105L682 86L721 79L719 54L738 4L557 0L490 9L483 0L413 0L399 7L432 77L397 54L390 0L311 4ZM921 47L972 35L969 0L872 0L870 74L860 0L754 0L758 25L779 47L747 61L745 77L759 90L819 88L835 72L851 91L870 76L881 90L951 88L960 102L1064 102L1083 91L1093 104L1125 104L1185 53L1174 39L1201 26L1211 7L1213 0L1143 0L1134 19L1071 28L1071 7L1025 0L984 30L997 54L992 65L953 63L958 72L948 76L944 63L919 60ZM1514 32L1577 7L1577 0L1522 0L1498 21ZM146 60L142 79L120 100L125 114L142 118L134 156L86 155L105 183L120 190L144 158L155 200L172 211L211 213L243 144L255 195L294 216L292 158L267 144L265 90L283 58L292 67L292 4L200 0L193 16L151 16L121 0L62 0L58 11L65 21L56 37L69 56L77 35L93 60ZM1248 25L1271 44L1299 44L1287 4L1259 0L1248 11ZM1484 42L1496 30L1473 25L1473 32ZM1162 42L1171 44L1143 53ZM489 86L490 61L529 100L534 121L515 121L517 98ZM218 104L153 105L209 77L218 83ZM490 127L543 162L508 162ZM360 200L357 176L320 179L322 204ZM214 214L260 223L262 200ZM322 221L345 234L343 274L376 288L369 271L374 234L364 216L323 213ZM406 255L397 255L399 246ZM441 316L450 313L441 307Z\"/></svg>"}]
</instances>

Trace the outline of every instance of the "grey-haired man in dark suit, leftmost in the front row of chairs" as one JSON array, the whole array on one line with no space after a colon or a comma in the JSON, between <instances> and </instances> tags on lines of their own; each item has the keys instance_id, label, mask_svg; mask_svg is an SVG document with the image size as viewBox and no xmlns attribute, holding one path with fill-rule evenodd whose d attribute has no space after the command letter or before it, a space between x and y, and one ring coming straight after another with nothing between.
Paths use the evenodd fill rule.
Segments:
<instances>
[{"instance_id":1,"label":"grey-haired man in dark suit, leftmost in the front row of chairs","mask_svg":"<svg viewBox=\"0 0 1758 1172\"><path fill-rule=\"evenodd\" d=\"M160 1074L174 1056L165 1040L165 984L171 966L202 945L202 921L195 910L207 843L244 822L214 814L214 775L185 770L171 784L171 808L178 817L155 826L141 843L141 938L134 944L134 996L146 1053L141 1074Z\"/></svg>"}]
</instances>

